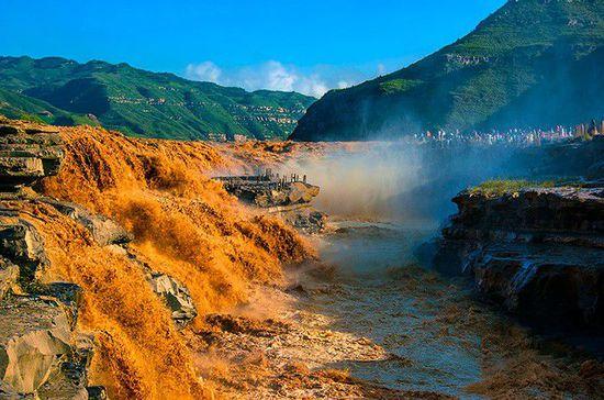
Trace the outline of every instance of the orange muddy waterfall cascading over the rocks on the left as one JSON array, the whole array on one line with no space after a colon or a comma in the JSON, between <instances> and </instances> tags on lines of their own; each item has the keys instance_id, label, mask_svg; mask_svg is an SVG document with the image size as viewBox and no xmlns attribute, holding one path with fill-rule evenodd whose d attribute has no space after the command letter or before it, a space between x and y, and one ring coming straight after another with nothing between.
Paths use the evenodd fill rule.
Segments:
<instances>
[{"instance_id":1,"label":"orange muddy waterfall cascading over the rocks on the left","mask_svg":"<svg viewBox=\"0 0 604 400\"><path fill-rule=\"evenodd\" d=\"M199 312L193 331L203 326L203 315L245 301L251 284L280 282L284 264L310 256L294 231L249 214L208 179L204 173L232 164L214 147L90 126L65 127L61 135L66 159L41 190L110 215L133 233L138 259L189 288ZM83 289L78 323L98 342L93 381L119 399L211 397L198 368L203 355L176 329L142 267L99 246L54 208L25 207L52 262L45 278Z\"/></svg>"}]
</instances>

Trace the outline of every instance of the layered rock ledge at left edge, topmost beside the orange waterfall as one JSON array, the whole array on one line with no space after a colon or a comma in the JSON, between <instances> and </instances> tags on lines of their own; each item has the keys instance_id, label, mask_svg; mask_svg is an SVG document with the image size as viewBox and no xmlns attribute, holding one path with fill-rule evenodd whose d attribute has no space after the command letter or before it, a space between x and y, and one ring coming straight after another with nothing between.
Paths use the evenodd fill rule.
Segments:
<instances>
[{"instance_id":1,"label":"layered rock ledge at left edge, topmost beside the orange waterfall","mask_svg":"<svg viewBox=\"0 0 604 400\"><path fill-rule=\"evenodd\" d=\"M0 191L56 175L64 157L55 127L0 118Z\"/></svg>"}]
</instances>

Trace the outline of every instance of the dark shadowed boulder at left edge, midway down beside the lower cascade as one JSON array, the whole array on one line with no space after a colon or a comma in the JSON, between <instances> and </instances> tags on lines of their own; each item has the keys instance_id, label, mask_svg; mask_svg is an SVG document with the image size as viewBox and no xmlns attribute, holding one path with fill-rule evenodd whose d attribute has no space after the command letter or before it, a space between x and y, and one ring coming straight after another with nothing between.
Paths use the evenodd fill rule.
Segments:
<instances>
[{"instance_id":1,"label":"dark shadowed boulder at left edge, midway down beside the lower cascade","mask_svg":"<svg viewBox=\"0 0 604 400\"><path fill-rule=\"evenodd\" d=\"M21 218L0 218L0 256L20 268L21 280L34 280L48 265L44 240L34 225Z\"/></svg>"}]
</instances>

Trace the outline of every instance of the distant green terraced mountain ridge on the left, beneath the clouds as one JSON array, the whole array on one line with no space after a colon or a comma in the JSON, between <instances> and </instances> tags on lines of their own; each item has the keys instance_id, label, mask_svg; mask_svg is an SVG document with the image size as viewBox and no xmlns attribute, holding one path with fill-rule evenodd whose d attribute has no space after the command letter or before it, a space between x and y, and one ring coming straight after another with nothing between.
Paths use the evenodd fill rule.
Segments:
<instances>
[{"instance_id":1,"label":"distant green terraced mountain ridge on the left, beneath the clouds","mask_svg":"<svg viewBox=\"0 0 604 400\"><path fill-rule=\"evenodd\" d=\"M227 88L127 64L0 57L0 113L55 124L100 123L146 137L284 138L315 101Z\"/></svg>"}]
</instances>

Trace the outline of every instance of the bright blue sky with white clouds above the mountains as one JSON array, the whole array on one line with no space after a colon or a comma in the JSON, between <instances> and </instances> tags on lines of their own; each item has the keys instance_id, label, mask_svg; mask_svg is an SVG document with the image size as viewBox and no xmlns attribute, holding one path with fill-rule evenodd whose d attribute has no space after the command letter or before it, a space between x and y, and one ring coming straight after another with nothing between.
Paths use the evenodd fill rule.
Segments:
<instances>
[{"instance_id":1,"label":"bright blue sky with white clouds above the mountains","mask_svg":"<svg viewBox=\"0 0 604 400\"><path fill-rule=\"evenodd\" d=\"M125 62L320 96L399 69L505 0L0 0L0 54Z\"/></svg>"}]
</instances>

